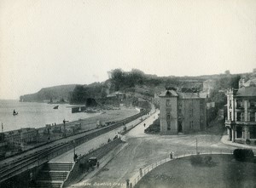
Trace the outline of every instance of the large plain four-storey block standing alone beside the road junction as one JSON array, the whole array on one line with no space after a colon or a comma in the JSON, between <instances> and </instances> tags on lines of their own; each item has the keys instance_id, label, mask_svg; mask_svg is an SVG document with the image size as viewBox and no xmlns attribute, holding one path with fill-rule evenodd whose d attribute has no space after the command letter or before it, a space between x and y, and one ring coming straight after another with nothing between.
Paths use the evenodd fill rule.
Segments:
<instances>
[{"instance_id":1,"label":"large plain four-storey block standing alone beside the road junction","mask_svg":"<svg viewBox=\"0 0 256 188\"><path fill-rule=\"evenodd\" d=\"M206 98L166 90L160 94L160 134L191 133L207 126Z\"/></svg>"}]
</instances>

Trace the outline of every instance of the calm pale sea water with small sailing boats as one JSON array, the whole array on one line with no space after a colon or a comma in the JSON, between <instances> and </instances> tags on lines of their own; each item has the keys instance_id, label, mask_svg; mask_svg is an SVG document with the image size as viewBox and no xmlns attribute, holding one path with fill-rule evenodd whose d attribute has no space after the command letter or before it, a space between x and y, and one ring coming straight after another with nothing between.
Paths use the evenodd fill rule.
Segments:
<instances>
[{"instance_id":1,"label":"calm pale sea water with small sailing boats","mask_svg":"<svg viewBox=\"0 0 256 188\"><path fill-rule=\"evenodd\" d=\"M3 122L3 132L20 128L40 128L49 123L59 124L64 118L74 121L95 116L84 112L72 113L71 108L67 108L70 106L68 104L59 105L58 110L54 110L54 106L45 103L0 100L0 124ZM17 116L13 116L14 110L19 112Z\"/></svg>"}]
</instances>

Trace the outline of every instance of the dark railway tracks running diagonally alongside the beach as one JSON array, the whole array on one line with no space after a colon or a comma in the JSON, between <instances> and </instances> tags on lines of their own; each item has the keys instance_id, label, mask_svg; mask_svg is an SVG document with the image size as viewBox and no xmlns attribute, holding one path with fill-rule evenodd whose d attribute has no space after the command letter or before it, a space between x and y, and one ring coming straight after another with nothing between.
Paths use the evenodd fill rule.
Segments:
<instances>
[{"instance_id":1,"label":"dark railway tracks running diagonally alongside the beach","mask_svg":"<svg viewBox=\"0 0 256 188\"><path fill-rule=\"evenodd\" d=\"M124 120L115 122L108 127L96 128L85 133L76 134L62 140L54 141L49 144L49 147L45 148L44 145L44 147L38 147L31 151L26 151L19 156L3 160L0 162L0 183L14 177L15 175L26 172L29 169L38 167L66 151L72 150L74 143L75 145L81 145L88 140L96 138L97 136L105 134L115 128L119 128L125 123L131 122L147 113L148 110L144 110L132 117L127 117Z\"/></svg>"}]
</instances>

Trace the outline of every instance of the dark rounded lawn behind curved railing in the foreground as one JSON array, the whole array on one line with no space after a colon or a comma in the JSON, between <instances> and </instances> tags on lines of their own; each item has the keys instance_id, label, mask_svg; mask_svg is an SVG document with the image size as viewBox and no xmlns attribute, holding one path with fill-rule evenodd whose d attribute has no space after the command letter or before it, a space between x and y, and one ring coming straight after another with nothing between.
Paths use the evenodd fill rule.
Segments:
<instances>
[{"instance_id":1,"label":"dark rounded lawn behind curved railing in the foreground","mask_svg":"<svg viewBox=\"0 0 256 188\"><path fill-rule=\"evenodd\" d=\"M135 187L253 188L256 187L256 163L237 162L232 155L212 155L210 164L192 165L190 157L184 157L154 168Z\"/></svg>"}]
</instances>

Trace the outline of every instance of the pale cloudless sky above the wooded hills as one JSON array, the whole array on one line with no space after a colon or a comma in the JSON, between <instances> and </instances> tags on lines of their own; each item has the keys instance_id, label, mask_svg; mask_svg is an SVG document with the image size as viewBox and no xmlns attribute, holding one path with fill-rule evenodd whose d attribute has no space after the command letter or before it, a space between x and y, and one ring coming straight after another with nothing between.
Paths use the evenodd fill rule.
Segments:
<instances>
[{"instance_id":1,"label":"pale cloudless sky above the wooded hills","mask_svg":"<svg viewBox=\"0 0 256 188\"><path fill-rule=\"evenodd\" d=\"M251 72L254 0L1 0L0 99L137 68L158 76Z\"/></svg>"}]
</instances>

